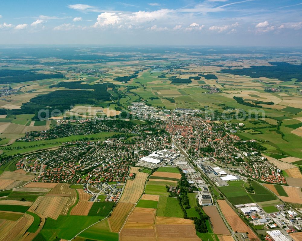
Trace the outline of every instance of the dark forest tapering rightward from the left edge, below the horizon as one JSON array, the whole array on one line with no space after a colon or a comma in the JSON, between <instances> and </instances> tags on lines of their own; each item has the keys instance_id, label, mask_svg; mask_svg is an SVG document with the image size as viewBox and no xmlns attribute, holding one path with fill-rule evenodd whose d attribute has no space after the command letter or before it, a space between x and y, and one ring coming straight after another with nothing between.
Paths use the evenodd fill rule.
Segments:
<instances>
[{"instance_id":1,"label":"dark forest tapering rightward from the left edge, below the horizon","mask_svg":"<svg viewBox=\"0 0 302 241\"><path fill-rule=\"evenodd\" d=\"M13 84L43 79L64 78L62 74L38 74L31 70L0 70L0 84Z\"/></svg>"}]
</instances>

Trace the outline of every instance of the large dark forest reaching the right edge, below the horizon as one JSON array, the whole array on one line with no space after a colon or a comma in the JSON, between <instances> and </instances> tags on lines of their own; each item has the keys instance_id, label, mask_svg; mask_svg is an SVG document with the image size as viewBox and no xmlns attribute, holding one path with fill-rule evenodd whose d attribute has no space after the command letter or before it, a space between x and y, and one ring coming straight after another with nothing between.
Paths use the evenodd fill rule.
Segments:
<instances>
[{"instance_id":1,"label":"large dark forest reaching the right edge, below the horizon","mask_svg":"<svg viewBox=\"0 0 302 241\"><path fill-rule=\"evenodd\" d=\"M222 69L221 73L246 75L251 78L275 78L281 81L302 81L302 65L291 65L286 62L270 62L272 66L251 66L243 69Z\"/></svg>"}]
</instances>

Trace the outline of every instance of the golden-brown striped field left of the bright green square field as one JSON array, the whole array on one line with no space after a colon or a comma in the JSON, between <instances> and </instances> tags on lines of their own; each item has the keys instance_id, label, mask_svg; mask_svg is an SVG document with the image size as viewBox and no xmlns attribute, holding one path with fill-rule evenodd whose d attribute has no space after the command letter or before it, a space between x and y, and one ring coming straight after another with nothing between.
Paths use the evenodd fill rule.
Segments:
<instances>
[{"instance_id":1,"label":"golden-brown striped field left of the bright green square field","mask_svg":"<svg viewBox=\"0 0 302 241\"><path fill-rule=\"evenodd\" d=\"M124 228L154 228L156 209L134 208L128 217Z\"/></svg>"}]
</instances>

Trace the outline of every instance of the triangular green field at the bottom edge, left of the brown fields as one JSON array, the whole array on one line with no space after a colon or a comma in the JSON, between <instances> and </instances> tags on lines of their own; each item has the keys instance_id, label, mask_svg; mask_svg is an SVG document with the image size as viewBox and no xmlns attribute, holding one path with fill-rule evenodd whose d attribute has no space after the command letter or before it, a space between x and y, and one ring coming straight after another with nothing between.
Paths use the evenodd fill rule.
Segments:
<instances>
[{"instance_id":1,"label":"triangular green field at the bottom edge, left of the brown fields","mask_svg":"<svg viewBox=\"0 0 302 241\"><path fill-rule=\"evenodd\" d=\"M79 237L98 241L118 241L118 233L110 231L107 220L102 220L80 233Z\"/></svg>"}]
</instances>

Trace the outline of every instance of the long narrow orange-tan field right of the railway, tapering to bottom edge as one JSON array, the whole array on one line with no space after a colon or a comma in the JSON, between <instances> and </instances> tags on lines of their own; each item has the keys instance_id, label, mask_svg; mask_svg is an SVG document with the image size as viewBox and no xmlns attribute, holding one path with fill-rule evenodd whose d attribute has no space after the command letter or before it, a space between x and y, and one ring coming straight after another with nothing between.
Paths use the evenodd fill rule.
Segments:
<instances>
[{"instance_id":1,"label":"long narrow orange-tan field right of the railway, tapering to bottom edge","mask_svg":"<svg viewBox=\"0 0 302 241\"><path fill-rule=\"evenodd\" d=\"M248 237L251 241L260 241L260 239L255 235L252 229L247 226L243 220L235 213L235 211L227 204L225 200L217 200L220 209L230 224L234 232L245 233L248 232Z\"/></svg>"}]
</instances>

